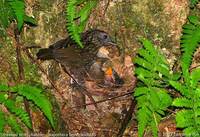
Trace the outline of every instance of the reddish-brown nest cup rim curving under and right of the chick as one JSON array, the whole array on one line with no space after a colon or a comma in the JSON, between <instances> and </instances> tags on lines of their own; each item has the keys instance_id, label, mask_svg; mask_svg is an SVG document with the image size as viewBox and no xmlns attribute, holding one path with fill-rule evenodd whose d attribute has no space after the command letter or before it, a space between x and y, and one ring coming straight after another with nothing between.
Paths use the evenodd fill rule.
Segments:
<instances>
[{"instance_id":1,"label":"reddish-brown nest cup rim curving under and right of the chick","mask_svg":"<svg viewBox=\"0 0 200 137\"><path fill-rule=\"evenodd\" d=\"M133 90L136 84L136 78L134 76L134 66L130 56L125 56L123 63L121 57L114 57L111 59L114 70L119 74L120 78L123 79L122 85L105 86L100 85L95 80L86 80L85 87L88 92L96 96L119 96L126 92Z\"/></svg>"}]
</instances>

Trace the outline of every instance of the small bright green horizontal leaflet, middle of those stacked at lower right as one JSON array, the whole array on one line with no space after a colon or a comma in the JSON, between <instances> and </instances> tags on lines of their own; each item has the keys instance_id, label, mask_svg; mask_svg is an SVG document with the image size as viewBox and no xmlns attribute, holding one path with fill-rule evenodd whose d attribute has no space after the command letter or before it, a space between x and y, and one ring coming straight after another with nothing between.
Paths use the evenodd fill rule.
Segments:
<instances>
[{"instance_id":1,"label":"small bright green horizontal leaflet, middle of those stacked at lower right","mask_svg":"<svg viewBox=\"0 0 200 137\"><path fill-rule=\"evenodd\" d=\"M188 100L187 98L176 98L174 101L173 101L173 104L174 106L177 106L177 107L186 107L186 108L192 108L193 107L193 103L192 103L192 100Z\"/></svg>"}]
</instances>

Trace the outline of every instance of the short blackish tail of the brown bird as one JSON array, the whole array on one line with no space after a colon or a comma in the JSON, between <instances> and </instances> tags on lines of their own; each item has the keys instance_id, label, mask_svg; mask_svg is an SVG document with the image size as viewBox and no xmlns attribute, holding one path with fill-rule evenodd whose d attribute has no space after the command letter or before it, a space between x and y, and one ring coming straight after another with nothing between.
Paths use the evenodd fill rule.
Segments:
<instances>
[{"instance_id":1,"label":"short blackish tail of the brown bird","mask_svg":"<svg viewBox=\"0 0 200 137\"><path fill-rule=\"evenodd\" d=\"M36 54L37 59L41 60L50 60L54 59L53 50L49 48L40 49Z\"/></svg>"}]
</instances>

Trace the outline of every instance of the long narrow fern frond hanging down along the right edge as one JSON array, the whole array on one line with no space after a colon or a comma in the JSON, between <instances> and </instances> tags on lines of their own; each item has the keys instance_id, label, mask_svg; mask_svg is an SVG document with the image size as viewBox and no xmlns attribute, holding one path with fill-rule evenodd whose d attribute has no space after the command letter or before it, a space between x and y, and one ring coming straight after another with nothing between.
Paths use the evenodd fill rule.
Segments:
<instances>
[{"instance_id":1,"label":"long narrow fern frond hanging down along the right edge","mask_svg":"<svg viewBox=\"0 0 200 137\"><path fill-rule=\"evenodd\" d=\"M200 20L196 16L189 17L189 23L183 26L183 36L181 47L183 51L181 66L182 72L187 85L189 85L189 67L192 61L193 53L199 46L200 42Z\"/></svg>"}]
</instances>

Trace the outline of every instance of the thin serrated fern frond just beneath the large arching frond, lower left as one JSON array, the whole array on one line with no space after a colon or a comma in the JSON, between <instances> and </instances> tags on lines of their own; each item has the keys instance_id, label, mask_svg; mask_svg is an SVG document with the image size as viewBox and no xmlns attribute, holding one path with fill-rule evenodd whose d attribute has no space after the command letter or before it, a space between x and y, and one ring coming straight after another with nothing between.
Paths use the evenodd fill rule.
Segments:
<instances>
[{"instance_id":1,"label":"thin serrated fern frond just beneath the large arching frond, lower left","mask_svg":"<svg viewBox=\"0 0 200 137\"><path fill-rule=\"evenodd\" d=\"M13 113L17 117L19 117L27 127L32 129L31 120L30 120L30 117L29 117L29 115L26 111L24 111L21 108L16 107L15 102L13 100L10 100L10 99L6 100L4 102L4 105L6 106L6 108L8 108L8 110L11 113Z\"/></svg>"}]
</instances>

